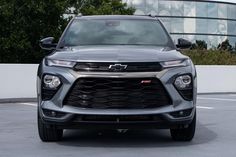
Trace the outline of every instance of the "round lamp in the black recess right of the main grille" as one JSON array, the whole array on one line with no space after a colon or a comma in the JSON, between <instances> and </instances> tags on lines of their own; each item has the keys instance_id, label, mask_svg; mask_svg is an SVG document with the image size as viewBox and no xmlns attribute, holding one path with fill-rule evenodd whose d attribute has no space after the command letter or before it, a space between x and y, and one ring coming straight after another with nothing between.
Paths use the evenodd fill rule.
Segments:
<instances>
[{"instance_id":1,"label":"round lamp in the black recess right of the main grille","mask_svg":"<svg viewBox=\"0 0 236 157\"><path fill-rule=\"evenodd\" d=\"M192 78L189 75L182 75L175 79L175 87L179 90L188 89L191 87Z\"/></svg>"}]
</instances>

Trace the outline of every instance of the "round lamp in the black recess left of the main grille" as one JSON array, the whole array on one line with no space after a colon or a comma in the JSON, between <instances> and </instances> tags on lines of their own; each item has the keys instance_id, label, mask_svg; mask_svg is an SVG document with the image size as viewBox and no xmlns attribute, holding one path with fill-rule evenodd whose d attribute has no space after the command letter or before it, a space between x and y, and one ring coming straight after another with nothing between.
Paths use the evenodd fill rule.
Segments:
<instances>
[{"instance_id":1,"label":"round lamp in the black recess left of the main grille","mask_svg":"<svg viewBox=\"0 0 236 157\"><path fill-rule=\"evenodd\" d=\"M46 88L51 89L55 89L61 84L60 78L53 75L45 75L43 82Z\"/></svg>"}]
</instances>

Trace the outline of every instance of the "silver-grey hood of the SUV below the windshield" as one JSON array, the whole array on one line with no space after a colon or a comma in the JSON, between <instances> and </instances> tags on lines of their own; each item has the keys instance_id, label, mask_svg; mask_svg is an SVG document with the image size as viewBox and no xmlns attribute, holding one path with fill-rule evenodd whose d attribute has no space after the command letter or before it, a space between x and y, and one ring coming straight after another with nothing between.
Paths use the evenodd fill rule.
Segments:
<instances>
[{"instance_id":1,"label":"silver-grey hood of the SUV below the windshield","mask_svg":"<svg viewBox=\"0 0 236 157\"><path fill-rule=\"evenodd\" d=\"M48 58L76 62L160 62L187 57L156 46L78 46L55 51Z\"/></svg>"}]
</instances>

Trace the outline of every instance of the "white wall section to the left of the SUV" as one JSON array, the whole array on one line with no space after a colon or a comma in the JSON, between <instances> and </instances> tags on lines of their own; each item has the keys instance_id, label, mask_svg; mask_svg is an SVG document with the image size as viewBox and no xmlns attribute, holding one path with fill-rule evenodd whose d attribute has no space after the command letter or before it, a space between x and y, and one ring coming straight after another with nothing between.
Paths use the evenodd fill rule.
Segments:
<instances>
[{"instance_id":1,"label":"white wall section to the left of the SUV","mask_svg":"<svg viewBox=\"0 0 236 157\"><path fill-rule=\"evenodd\" d=\"M0 99L36 97L37 64L0 64Z\"/></svg>"}]
</instances>

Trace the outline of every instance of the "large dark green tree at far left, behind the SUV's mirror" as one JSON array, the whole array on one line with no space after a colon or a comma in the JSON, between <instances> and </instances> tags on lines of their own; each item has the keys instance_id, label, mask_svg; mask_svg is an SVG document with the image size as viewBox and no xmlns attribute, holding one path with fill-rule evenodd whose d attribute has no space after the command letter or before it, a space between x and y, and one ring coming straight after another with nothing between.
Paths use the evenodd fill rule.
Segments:
<instances>
[{"instance_id":1,"label":"large dark green tree at far left, behind the SUV's mirror","mask_svg":"<svg viewBox=\"0 0 236 157\"><path fill-rule=\"evenodd\" d=\"M0 4L0 62L38 63L39 39L58 37L65 27L64 0L2 0Z\"/></svg>"}]
</instances>

